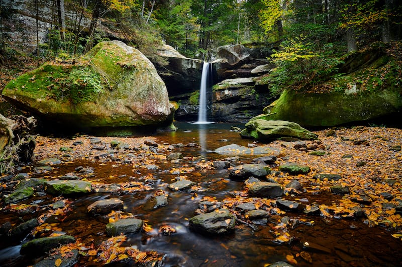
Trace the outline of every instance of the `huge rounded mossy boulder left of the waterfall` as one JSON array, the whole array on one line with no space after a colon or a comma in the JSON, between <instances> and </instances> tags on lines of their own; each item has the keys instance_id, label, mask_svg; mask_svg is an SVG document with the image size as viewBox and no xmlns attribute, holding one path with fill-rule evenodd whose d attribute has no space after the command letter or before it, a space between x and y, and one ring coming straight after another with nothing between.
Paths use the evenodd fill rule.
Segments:
<instances>
[{"instance_id":1,"label":"huge rounded mossy boulder left of the waterfall","mask_svg":"<svg viewBox=\"0 0 402 267\"><path fill-rule=\"evenodd\" d=\"M153 64L120 41L97 44L74 65L45 63L11 81L3 96L77 127L168 124L174 110Z\"/></svg>"}]
</instances>

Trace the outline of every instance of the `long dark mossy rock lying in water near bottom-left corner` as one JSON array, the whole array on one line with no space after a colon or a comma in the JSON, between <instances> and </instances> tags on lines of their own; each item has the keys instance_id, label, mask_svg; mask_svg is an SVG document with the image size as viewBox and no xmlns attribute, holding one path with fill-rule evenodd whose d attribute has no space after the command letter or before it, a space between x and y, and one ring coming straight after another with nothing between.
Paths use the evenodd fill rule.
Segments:
<instances>
[{"instance_id":1,"label":"long dark mossy rock lying in water near bottom-left corner","mask_svg":"<svg viewBox=\"0 0 402 267\"><path fill-rule=\"evenodd\" d=\"M52 248L74 242L75 238L67 234L36 238L22 244L20 253L38 256L48 252Z\"/></svg>"}]
</instances>

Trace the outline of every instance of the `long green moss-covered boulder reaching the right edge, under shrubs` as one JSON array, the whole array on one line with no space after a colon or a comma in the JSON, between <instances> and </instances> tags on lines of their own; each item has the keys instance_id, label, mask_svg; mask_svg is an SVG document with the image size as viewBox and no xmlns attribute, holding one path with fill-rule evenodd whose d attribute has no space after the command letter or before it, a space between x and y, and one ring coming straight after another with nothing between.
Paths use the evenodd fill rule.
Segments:
<instances>
[{"instance_id":1,"label":"long green moss-covered boulder reaching the right edge, under shrubs","mask_svg":"<svg viewBox=\"0 0 402 267\"><path fill-rule=\"evenodd\" d=\"M266 120L293 121L303 126L335 126L376 119L401 109L400 93L392 90L357 90L348 94L285 90L263 113Z\"/></svg>"}]
</instances>

